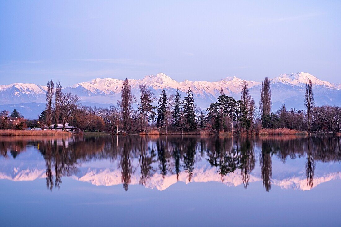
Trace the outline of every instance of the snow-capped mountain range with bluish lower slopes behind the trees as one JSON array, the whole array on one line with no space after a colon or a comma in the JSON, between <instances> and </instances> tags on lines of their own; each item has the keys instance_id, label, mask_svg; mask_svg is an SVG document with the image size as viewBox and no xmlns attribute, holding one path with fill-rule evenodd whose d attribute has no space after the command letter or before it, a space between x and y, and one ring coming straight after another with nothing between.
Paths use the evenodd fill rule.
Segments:
<instances>
[{"instance_id":1,"label":"snow-capped mountain range with bluish lower slopes behind the trees","mask_svg":"<svg viewBox=\"0 0 341 227\"><path fill-rule=\"evenodd\" d=\"M272 110L276 110L280 105L285 104L288 108L302 109L305 85L311 80L315 102L317 105L341 105L341 84L333 84L316 78L309 73L282 74L271 79L272 91ZM138 86L147 85L156 95L159 95L164 89L167 93L175 93L179 89L181 96L191 87L195 104L207 107L209 103L215 101L223 88L225 94L240 98L240 92L243 80L237 77L226 77L219 81L189 81L178 82L169 76L159 73L157 75L148 75L143 79L130 79L132 92L138 97ZM260 100L261 82L247 81L250 93L256 103ZM63 89L63 92L71 92L81 97L82 102L93 105L113 104L120 99L120 92L123 80L113 78L97 78L88 82L81 82ZM35 84L0 85L0 109L4 107L23 108L25 110L34 110L36 105L32 103L45 102L46 86ZM31 103L30 105L24 103ZM2 104L2 106L1 106ZM18 105L20 104L20 105ZM30 106L30 107L29 107ZM32 107L33 106L33 107ZM39 105L43 110L44 105ZM39 109L38 108L38 109ZM10 108L11 109L11 108ZM39 110L40 111L40 110ZM34 113L36 116L37 113Z\"/></svg>"}]
</instances>

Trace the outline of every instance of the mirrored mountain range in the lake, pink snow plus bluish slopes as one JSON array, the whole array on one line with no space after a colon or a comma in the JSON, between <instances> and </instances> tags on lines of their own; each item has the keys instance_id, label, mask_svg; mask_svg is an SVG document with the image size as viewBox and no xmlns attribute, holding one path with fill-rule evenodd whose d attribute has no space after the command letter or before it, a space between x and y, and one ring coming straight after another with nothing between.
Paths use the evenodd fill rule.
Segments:
<instances>
[{"instance_id":1,"label":"mirrored mountain range in the lake, pink snow plus bluish slopes","mask_svg":"<svg viewBox=\"0 0 341 227\"><path fill-rule=\"evenodd\" d=\"M93 185L113 186L122 184L121 170L117 163L111 164L110 167L98 167L101 162L93 166L93 163L86 163L84 167L79 166L78 172L70 176L77 181L88 182ZM15 165L13 162L6 164L2 163L0 167L0 180L6 179L11 181L34 181L37 179L46 178L45 162L24 163ZM107 164L105 164L107 165ZM259 167L250 175L249 183L262 182L262 177ZM322 171L314 177L313 187L325 182L341 179L341 172L339 171ZM144 184L146 188L156 188L159 191L166 190L168 187L176 184L177 182L190 183L188 173L181 172L177 178L176 174L170 174L163 177L159 172L155 172L148 181ZM196 165L193 170L191 182L206 183L218 182L226 186L239 186L243 185L241 170L235 170L232 173L221 178L217 169L210 166L206 162L201 162ZM130 185L137 185L140 183L139 171L134 171L130 179ZM307 191L311 188L307 185L307 178L305 172L298 171L296 168L286 173L286 175L278 174L273 176L271 184L279 186L283 189Z\"/></svg>"}]
</instances>

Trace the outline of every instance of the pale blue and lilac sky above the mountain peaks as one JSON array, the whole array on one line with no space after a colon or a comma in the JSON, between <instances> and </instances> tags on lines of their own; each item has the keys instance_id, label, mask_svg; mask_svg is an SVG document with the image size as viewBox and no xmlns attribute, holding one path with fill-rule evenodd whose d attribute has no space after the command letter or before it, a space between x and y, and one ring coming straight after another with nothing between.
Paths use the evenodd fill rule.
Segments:
<instances>
[{"instance_id":1,"label":"pale blue and lilac sky above the mountain peaks","mask_svg":"<svg viewBox=\"0 0 341 227\"><path fill-rule=\"evenodd\" d=\"M341 83L341 1L4 1L0 84L94 78Z\"/></svg>"}]
</instances>

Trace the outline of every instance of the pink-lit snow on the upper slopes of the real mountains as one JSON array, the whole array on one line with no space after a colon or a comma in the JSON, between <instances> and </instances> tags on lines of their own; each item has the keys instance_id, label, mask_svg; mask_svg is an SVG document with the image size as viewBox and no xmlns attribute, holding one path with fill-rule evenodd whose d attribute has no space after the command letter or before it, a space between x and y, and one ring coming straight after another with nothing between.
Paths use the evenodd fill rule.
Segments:
<instances>
[{"instance_id":1,"label":"pink-lit snow on the upper slopes of the real mountains","mask_svg":"<svg viewBox=\"0 0 341 227\"><path fill-rule=\"evenodd\" d=\"M316 78L315 76L309 73L293 73L293 74L281 74L279 77L275 77L271 79L271 83L284 83L295 86L303 87L305 84L312 81L314 87L323 86L330 89L341 89L341 84L332 84L328 81L324 81ZM186 92L189 87L191 87L195 96L205 96L206 94L210 94L213 96L217 96L220 93L220 89L223 88L223 91L227 95L238 94L242 89L243 80L237 77L226 77L219 81L208 82L208 81L190 81L184 80L182 82L178 82L169 76L159 73L157 75L148 75L143 79L129 79L130 85L132 86L132 90L138 90L139 85L147 85L155 90L162 89L179 89L182 92ZM249 88L252 88L256 85L260 85L261 82L257 81L247 81ZM113 78L97 78L88 82L80 82L71 86L70 88L81 87L85 90L88 90L91 94L102 94L102 95L114 95L119 94L121 92L123 80L113 79ZM37 86L35 84L10 84L10 85L0 85L0 92L5 92L12 88L16 88L17 91L14 95L20 96L23 94L45 94L46 86Z\"/></svg>"}]
</instances>

